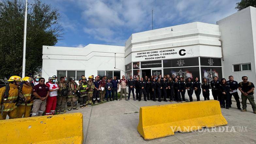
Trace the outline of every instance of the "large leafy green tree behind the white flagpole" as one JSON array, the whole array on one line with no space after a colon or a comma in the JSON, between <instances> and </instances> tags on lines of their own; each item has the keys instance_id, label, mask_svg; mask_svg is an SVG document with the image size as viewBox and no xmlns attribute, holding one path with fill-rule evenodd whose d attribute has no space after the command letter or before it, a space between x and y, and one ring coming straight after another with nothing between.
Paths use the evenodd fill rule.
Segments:
<instances>
[{"instance_id":1,"label":"large leafy green tree behind the white flagpole","mask_svg":"<svg viewBox=\"0 0 256 144\"><path fill-rule=\"evenodd\" d=\"M23 60L25 2L0 1L0 78L20 75ZM26 36L26 74L42 67L42 46L53 46L62 36L56 8L35 0L28 4Z\"/></svg>"}]
</instances>

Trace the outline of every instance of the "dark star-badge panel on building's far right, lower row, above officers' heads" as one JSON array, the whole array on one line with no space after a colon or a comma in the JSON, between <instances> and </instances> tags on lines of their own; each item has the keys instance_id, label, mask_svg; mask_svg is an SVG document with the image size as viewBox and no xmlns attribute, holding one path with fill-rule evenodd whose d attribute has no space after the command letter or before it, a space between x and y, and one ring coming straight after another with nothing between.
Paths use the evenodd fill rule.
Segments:
<instances>
[{"instance_id":1,"label":"dark star-badge panel on building's far right, lower row, above officers' heads","mask_svg":"<svg viewBox=\"0 0 256 144\"><path fill-rule=\"evenodd\" d=\"M207 82L213 81L213 77L217 76L218 79L222 79L222 69L221 67L201 67L202 79L205 77Z\"/></svg>"}]
</instances>

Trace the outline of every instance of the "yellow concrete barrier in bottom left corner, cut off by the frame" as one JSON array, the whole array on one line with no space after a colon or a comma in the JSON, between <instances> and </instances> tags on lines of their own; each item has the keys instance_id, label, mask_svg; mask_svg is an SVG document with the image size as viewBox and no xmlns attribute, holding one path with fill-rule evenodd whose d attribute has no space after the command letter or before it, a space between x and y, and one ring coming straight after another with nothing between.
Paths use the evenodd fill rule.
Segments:
<instances>
[{"instance_id":1,"label":"yellow concrete barrier in bottom left corner, cut off by the frame","mask_svg":"<svg viewBox=\"0 0 256 144\"><path fill-rule=\"evenodd\" d=\"M83 115L61 114L0 120L0 144L81 144Z\"/></svg>"}]
</instances>

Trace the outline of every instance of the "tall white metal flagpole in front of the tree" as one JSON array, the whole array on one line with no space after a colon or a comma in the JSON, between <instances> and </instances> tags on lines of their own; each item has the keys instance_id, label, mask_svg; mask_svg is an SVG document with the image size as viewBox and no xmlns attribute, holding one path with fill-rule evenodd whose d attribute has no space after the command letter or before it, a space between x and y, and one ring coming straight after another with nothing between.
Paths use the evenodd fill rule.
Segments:
<instances>
[{"instance_id":1,"label":"tall white metal flagpole in front of the tree","mask_svg":"<svg viewBox=\"0 0 256 144\"><path fill-rule=\"evenodd\" d=\"M26 36L27 36L27 0L26 0L26 8L25 8L25 20L24 20L22 77L25 77L25 68L26 68Z\"/></svg>"}]
</instances>

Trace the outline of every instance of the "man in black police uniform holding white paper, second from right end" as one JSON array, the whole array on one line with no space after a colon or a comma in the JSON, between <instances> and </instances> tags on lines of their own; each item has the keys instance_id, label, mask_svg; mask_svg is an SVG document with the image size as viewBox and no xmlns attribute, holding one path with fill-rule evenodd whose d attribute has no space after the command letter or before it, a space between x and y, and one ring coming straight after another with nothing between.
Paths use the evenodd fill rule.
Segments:
<instances>
[{"instance_id":1,"label":"man in black police uniform holding white paper, second from right end","mask_svg":"<svg viewBox=\"0 0 256 144\"><path fill-rule=\"evenodd\" d=\"M235 98L235 101L236 101L237 109L241 110L240 100L239 100L239 96L238 96L238 93L237 93L238 83L237 83L237 81L234 81L234 77L232 75L229 76L229 81L227 81L227 84L230 87L229 107L231 107L231 104L232 104L231 98L232 98L232 95L233 95L234 98Z\"/></svg>"}]
</instances>

